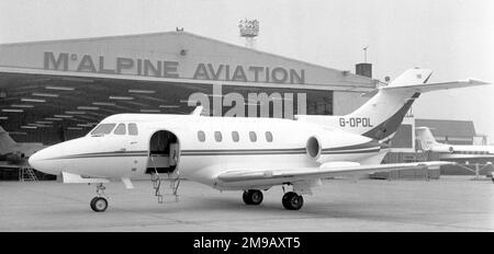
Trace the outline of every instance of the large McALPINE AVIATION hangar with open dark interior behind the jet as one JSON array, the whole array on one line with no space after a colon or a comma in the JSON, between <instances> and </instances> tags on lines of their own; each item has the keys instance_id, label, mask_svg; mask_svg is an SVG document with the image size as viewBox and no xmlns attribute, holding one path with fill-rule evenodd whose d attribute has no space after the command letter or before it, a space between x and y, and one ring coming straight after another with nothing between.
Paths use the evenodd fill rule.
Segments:
<instances>
[{"instance_id":1,"label":"large McALPINE AVIATION hangar with open dark interior behind the jet","mask_svg":"<svg viewBox=\"0 0 494 254\"><path fill-rule=\"evenodd\" d=\"M210 115L228 115L234 105L226 94L249 104L251 93L267 94L270 105L282 101L278 117L346 114L377 84L182 31L3 44L0 125L16 141L50 145L80 137L112 114L188 114L198 94L210 99L199 97ZM265 116L258 112L249 116ZM269 116L277 117L272 108Z\"/></svg>"}]
</instances>

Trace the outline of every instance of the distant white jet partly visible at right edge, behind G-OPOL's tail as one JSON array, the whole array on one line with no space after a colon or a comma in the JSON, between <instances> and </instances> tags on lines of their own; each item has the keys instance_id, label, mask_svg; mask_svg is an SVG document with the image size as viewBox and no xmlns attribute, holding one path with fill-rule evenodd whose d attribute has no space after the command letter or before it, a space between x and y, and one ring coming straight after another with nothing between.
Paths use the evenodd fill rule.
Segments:
<instances>
[{"instance_id":1,"label":"distant white jet partly visible at right edge, behind G-OPOL's tail","mask_svg":"<svg viewBox=\"0 0 494 254\"><path fill-rule=\"evenodd\" d=\"M415 128L422 149L438 152L441 160L494 159L494 146L465 146L437 142L428 127Z\"/></svg>"}]
</instances>

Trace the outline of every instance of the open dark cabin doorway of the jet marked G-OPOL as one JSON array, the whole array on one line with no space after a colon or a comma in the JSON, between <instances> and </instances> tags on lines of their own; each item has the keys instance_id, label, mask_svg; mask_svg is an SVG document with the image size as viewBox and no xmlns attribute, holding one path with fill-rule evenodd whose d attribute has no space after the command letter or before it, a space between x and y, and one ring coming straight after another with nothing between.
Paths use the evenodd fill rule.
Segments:
<instances>
[{"instance_id":1,"label":"open dark cabin doorway of the jet marked G-OPOL","mask_svg":"<svg viewBox=\"0 0 494 254\"><path fill-rule=\"evenodd\" d=\"M180 155L179 140L168 130L158 130L149 140L149 159L146 173L168 173L177 170Z\"/></svg>"}]
</instances>

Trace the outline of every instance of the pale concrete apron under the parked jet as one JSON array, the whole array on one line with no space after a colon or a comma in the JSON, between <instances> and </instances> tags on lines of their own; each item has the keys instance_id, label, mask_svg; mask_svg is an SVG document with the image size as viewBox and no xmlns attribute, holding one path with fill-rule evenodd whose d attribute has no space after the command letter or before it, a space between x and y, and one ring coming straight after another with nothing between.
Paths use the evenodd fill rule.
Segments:
<instances>
[{"instance_id":1,"label":"pale concrete apron under the parked jet","mask_svg":"<svg viewBox=\"0 0 494 254\"><path fill-rule=\"evenodd\" d=\"M187 181L165 204L148 181L111 183L109 209L93 212L93 185L0 182L0 231L494 231L494 184L470 178L324 181L299 211L279 186L246 206L240 192Z\"/></svg>"}]
</instances>

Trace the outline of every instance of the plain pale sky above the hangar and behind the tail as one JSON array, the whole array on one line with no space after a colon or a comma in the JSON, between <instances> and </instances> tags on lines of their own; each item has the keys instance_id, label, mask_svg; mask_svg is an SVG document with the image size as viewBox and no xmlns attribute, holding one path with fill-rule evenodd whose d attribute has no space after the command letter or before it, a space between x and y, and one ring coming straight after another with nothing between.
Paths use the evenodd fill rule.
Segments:
<instances>
[{"instance_id":1,"label":"plain pale sky above the hangar and behind the tail","mask_svg":"<svg viewBox=\"0 0 494 254\"><path fill-rule=\"evenodd\" d=\"M414 67L429 82L494 82L492 0L0 0L0 44L184 31L244 45L238 21L260 22L256 48L329 68L373 64L393 80ZM494 143L494 84L423 94L417 118L473 120Z\"/></svg>"}]
</instances>

